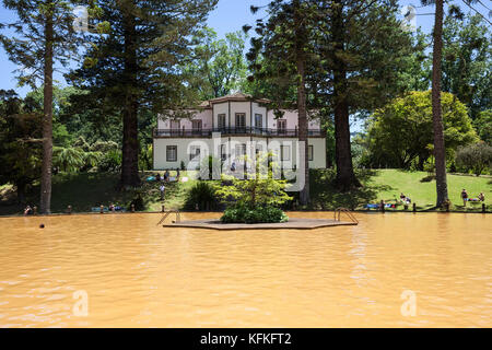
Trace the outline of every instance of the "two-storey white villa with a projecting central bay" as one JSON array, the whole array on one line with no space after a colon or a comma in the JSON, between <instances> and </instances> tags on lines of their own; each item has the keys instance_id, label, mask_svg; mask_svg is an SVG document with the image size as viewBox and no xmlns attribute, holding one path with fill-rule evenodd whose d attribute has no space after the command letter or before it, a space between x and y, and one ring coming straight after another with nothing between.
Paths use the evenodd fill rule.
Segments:
<instances>
[{"instance_id":1,"label":"two-storey white villa with a projecting central bay","mask_svg":"<svg viewBox=\"0 0 492 350\"><path fill-rule=\"evenodd\" d=\"M245 154L265 150L278 154L284 168L295 168L300 158L297 112L282 110L276 118L268 100L235 93L203 102L190 118L160 116L153 133L154 170L188 166L208 155L235 162ZM309 167L326 167L326 141L319 120L308 121Z\"/></svg>"}]
</instances>

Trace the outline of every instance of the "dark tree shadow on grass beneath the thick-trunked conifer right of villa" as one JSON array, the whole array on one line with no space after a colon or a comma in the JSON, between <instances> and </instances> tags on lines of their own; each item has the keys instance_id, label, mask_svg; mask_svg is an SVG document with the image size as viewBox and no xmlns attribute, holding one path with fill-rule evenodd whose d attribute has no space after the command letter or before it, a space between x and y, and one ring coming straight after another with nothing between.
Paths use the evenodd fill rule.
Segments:
<instances>
[{"instance_id":1,"label":"dark tree shadow on grass beneath the thick-trunked conifer right of villa","mask_svg":"<svg viewBox=\"0 0 492 350\"><path fill-rule=\"evenodd\" d=\"M371 178L377 171L359 170L355 176L363 187L340 192L335 185L335 170L313 170L309 175L311 197L313 209L332 210L345 207L351 210L363 207L366 203L380 200L377 194L383 190L391 190L388 185L372 184Z\"/></svg>"}]
</instances>

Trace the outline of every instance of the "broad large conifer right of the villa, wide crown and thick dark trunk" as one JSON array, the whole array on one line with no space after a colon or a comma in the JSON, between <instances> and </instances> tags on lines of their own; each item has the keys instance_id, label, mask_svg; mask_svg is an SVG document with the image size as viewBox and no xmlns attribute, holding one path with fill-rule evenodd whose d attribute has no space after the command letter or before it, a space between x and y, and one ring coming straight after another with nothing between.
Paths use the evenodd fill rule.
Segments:
<instances>
[{"instance_id":1,"label":"broad large conifer right of the villa, wide crown and thick dark trunk","mask_svg":"<svg viewBox=\"0 0 492 350\"><path fill-rule=\"evenodd\" d=\"M297 84L300 136L305 109L333 118L338 188L358 187L349 117L367 114L408 88L400 78L411 63L413 46L396 18L398 3L303 0L279 7L279 2L270 4L269 22L257 24L260 40L253 40L251 54L262 54L262 61L261 66L254 61L251 68L277 83L295 78L290 81ZM248 58L258 57L251 54Z\"/></svg>"}]
</instances>

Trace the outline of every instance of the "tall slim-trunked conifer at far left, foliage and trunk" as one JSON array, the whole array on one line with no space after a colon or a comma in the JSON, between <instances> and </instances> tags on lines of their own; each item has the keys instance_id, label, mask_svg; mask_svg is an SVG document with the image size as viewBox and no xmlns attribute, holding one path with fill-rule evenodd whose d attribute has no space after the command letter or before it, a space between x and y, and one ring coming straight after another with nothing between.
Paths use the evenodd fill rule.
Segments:
<instances>
[{"instance_id":1,"label":"tall slim-trunked conifer at far left, foliage and trunk","mask_svg":"<svg viewBox=\"0 0 492 350\"><path fill-rule=\"evenodd\" d=\"M20 67L21 85L44 85L43 164L39 211L49 213L51 203L52 163L52 74L56 63L67 66L77 54L78 36L73 28L73 8L83 1L71 0L3 0L15 11L15 23L2 23L1 28L14 33L0 35L11 61ZM5 31L7 32L7 31Z\"/></svg>"}]
</instances>

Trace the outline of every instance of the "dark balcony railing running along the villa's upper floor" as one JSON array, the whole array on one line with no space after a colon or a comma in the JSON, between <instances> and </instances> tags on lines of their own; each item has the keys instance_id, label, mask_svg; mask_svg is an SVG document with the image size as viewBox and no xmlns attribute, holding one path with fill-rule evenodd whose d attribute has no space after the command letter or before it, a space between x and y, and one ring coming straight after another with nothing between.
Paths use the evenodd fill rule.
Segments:
<instances>
[{"instance_id":1,"label":"dark balcony railing running along the villa's upper floor","mask_svg":"<svg viewBox=\"0 0 492 350\"><path fill-rule=\"evenodd\" d=\"M265 137L298 137L298 130L295 129L269 129L255 127L236 127L236 128L214 128L214 129L154 129L155 138L192 138L192 137L212 137L213 132L222 135L247 135L247 136L265 136ZM319 129L308 129L307 136L321 137Z\"/></svg>"}]
</instances>

